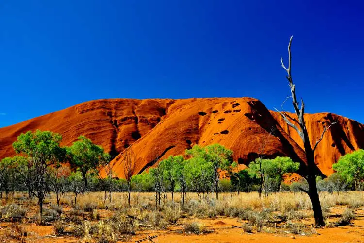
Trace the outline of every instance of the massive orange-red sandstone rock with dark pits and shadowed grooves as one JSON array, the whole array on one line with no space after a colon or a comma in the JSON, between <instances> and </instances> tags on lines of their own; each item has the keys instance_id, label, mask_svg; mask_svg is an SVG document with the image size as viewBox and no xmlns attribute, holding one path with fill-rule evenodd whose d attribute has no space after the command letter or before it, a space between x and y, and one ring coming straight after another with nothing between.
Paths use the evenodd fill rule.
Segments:
<instances>
[{"instance_id":1,"label":"massive orange-red sandstone rock with dark pits and shadowed grooves","mask_svg":"<svg viewBox=\"0 0 364 243\"><path fill-rule=\"evenodd\" d=\"M305 119L312 144L325 125L338 121L315 151L323 174L332 173L332 164L340 156L364 148L363 124L331 113L307 114ZM290 156L302 164L299 173L304 174L305 156L298 134L277 112L253 98L90 101L0 128L0 158L15 154L11 144L20 133L36 129L62 134L63 145L85 135L111 154L119 177L123 177L119 154L131 145L140 173L153 166L157 157L214 143L231 149L239 164L248 165L262 150L266 158Z\"/></svg>"}]
</instances>

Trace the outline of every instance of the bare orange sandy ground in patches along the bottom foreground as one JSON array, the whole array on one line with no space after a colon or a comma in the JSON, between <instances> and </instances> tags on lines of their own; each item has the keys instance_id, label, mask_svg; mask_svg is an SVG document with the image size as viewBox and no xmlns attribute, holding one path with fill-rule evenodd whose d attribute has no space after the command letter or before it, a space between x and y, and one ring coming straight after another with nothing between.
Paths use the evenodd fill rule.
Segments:
<instances>
[{"instance_id":1,"label":"bare orange sandy ground in patches along the bottom foreground","mask_svg":"<svg viewBox=\"0 0 364 243\"><path fill-rule=\"evenodd\" d=\"M337 206L331 210L331 214L342 211ZM206 229L212 231L205 234L185 234L182 233L182 226L171 226L167 230L138 230L136 235L126 237L120 242L135 242L148 236L157 237L153 239L156 243L237 243L237 242L256 242L256 243L360 243L364 242L364 211L355 212L356 220L350 226L329 226L323 228L307 227L303 234L294 235L285 231L285 229L274 228L270 232L253 232L245 233L239 228L242 222L238 219L228 217L218 217L216 219L180 219L179 223L186 221L197 221L206 226ZM337 218L330 218L330 222L335 222ZM305 225L313 223L312 219L302 222ZM0 234L9 228L11 223L0 224ZM84 242L83 239L69 236L55 236L53 226L35 226L28 224L25 226L28 236L23 239L14 239L13 242L27 243L79 243ZM2 231L2 232L1 232ZM0 242L9 242L1 241ZM96 242L96 241L95 241ZM147 243L148 241L144 241Z\"/></svg>"}]
</instances>

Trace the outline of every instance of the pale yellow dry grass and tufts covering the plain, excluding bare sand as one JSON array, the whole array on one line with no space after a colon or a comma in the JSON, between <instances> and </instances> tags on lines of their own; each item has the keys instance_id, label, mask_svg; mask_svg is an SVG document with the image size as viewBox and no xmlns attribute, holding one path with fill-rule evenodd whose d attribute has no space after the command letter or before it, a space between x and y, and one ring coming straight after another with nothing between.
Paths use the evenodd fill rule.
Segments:
<instances>
[{"instance_id":1,"label":"pale yellow dry grass and tufts covering the plain, excluding bare sand","mask_svg":"<svg viewBox=\"0 0 364 243\"><path fill-rule=\"evenodd\" d=\"M235 218L242 222L241 227L247 233L276 232L277 229L268 220L284 219L286 224L282 232L302 234L307 231L307 226L304 225L307 220L313 220L310 199L301 192L271 193L261 198L256 192L240 193L239 196L220 193L218 201L210 197L208 202L199 201L196 193L187 193L184 205L176 193L174 205L168 194L157 210L154 193L141 193L138 204L136 193L132 193L131 207L127 205L125 193L121 192L113 193L111 202L104 202L103 192L79 195L76 205L72 203L73 199L71 193L66 193L60 201L61 206L57 206L55 197L51 194L47 198L50 205L44 206L42 222L53 225L55 235L73 235L84 242L114 243L137 231L168 230L170 226L179 227L184 233L201 234L209 231L198 222L200 219L221 217ZM335 225L349 225L355 218L353 210L364 205L364 192L321 192L320 199L326 214L337 210L333 210L335 207L342 208L345 205L347 209ZM16 193L14 198L2 200L1 204L2 219L22 218L17 224L12 224L9 232L3 231L1 241L14 242L15 238L22 235L27 238L27 242L32 242L31 232L28 229L28 236L24 236L24 228L30 224L28 219L37 216L36 200L28 199L25 193Z\"/></svg>"}]
</instances>

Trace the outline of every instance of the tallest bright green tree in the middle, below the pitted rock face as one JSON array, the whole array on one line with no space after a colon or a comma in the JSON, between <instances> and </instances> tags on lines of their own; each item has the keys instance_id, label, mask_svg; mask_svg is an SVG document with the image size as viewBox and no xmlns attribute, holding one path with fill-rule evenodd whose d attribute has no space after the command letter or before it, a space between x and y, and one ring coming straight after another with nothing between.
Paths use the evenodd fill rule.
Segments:
<instances>
[{"instance_id":1,"label":"tallest bright green tree in the middle, below the pitted rock face","mask_svg":"<svg viewBox=\"0 0 364 243\"><path fill-rule=\"evenodd\" d=\"M195 145L192 149L186 150L186 155L202 159L211 167L213 190L218 199L220 174L232 166L232 151L220 144L212 144L204 148Z\"/></svg>"}]
</instances>

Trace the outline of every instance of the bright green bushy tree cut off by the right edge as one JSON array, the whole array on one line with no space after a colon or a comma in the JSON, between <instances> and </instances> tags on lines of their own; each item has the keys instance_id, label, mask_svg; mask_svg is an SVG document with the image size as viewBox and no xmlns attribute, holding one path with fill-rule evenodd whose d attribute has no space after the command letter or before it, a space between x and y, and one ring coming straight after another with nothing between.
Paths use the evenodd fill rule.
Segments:
<instances>
[{"instance_id":1,"label":"bright green bushy tree cut off by the right edge","mask_svg":"<svg viewBox=\"0 0 364 243\"><path fill-rule=\"evenodd\" d=\"M354 184L355 191L362 188L364 180L364 150L359 149L341 156L337 163L332 165L347 183Z\"/></svg>"}]
</instances>

